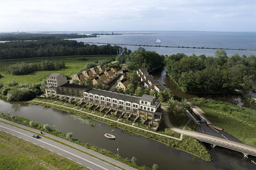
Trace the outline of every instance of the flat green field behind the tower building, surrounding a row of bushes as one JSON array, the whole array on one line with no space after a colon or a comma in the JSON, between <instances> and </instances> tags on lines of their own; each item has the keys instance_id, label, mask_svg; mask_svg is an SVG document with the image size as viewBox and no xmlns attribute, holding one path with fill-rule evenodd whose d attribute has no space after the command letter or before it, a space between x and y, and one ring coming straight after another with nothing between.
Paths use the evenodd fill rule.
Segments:
<instances>
[{"instance_id":1,"label":"flat green field behind the tower building, surrounding a row of bushes","mask_svg":"<svg viewBox=\"0 0 256 170\"><path fill-rule=\"evenodd\" d=\"M78 59L80 57L87 58L86 61L79 61ZM84 55L84 56L60 56L60 57L40 57L40 58L22 58L22 59L11 59L11 60L0 60L0 74L2 77L0 78L0 81L6 85L8 82L11 82L12 79L15 79L18 83L24 83L26 81L27 83L36 83L41 81L42 79L49 76L49 74L55 72L55 73L63 73L69 78L71 78L71 75L78 73L81 68L84 68L85 63L97 61L97 60L103 60L116 57L116 55ZM49 61L64 61L66 64L65 69L61 70L51 70L51 71L37 71L33 72L31 74L26 75L11 75L5 73L5 67L10 66L12 64L15 64L17 62L41 62L44 60Z\"/></svg>"}]
</instances>

